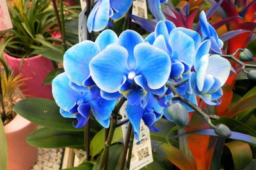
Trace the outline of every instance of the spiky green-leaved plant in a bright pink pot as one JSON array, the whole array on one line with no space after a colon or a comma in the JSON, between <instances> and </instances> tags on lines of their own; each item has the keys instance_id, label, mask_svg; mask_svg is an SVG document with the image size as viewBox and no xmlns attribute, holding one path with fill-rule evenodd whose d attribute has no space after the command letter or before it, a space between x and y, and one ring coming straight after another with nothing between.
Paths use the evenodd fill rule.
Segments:
<instances>
[{"instance_id":1,"label":"spiky green-leaved plant in a bright pink pot","mask_svg":"<svg viewBox=\"0 0 256 170\"><path fill-rule=\"evenodd\" d=\"M29 97L52 98L51 86L43 86L45 77L54 69L53 61L62 61L61 42L54 38L59 30L51 1L20 0L9 3L13 29L2 33L2 49L8 64L17 74L30 77L23 86ZM72 12L67 13L70 18Z\"/></svg>"}]
</instances>

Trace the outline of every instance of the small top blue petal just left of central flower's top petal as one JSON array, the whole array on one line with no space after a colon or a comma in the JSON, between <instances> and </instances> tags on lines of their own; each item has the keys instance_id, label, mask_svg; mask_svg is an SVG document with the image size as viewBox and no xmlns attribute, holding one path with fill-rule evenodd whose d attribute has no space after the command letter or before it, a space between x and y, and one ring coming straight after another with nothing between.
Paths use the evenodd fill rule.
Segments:
<instances>
[{"instance_id":1,"label":"small top blue petal just left of central flower's top petal","mask_svg":"<svg viewBox=\"0 0 256 170\"><path fill-rule=\"evenodd\" d=\"M99 45L100 51L106 49L109 44L116 43L118 41L118 37L114 31L111 29L106 29L100 33L100 35L95 40L95 43Z\"/></svg>"}]
</instances>

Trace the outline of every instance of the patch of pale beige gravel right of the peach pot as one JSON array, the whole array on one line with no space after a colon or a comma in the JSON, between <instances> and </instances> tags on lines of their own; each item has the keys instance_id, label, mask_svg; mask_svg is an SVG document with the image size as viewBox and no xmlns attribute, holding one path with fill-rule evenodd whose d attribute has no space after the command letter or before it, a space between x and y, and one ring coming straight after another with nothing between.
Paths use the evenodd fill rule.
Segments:
<instances>
[{"instance_id":1,"label":"patch of pale beige gravel right of the peach pot","mask_svg":"<svg viewBox=\"0 0 256 170\"><path fill-rule=\"evenodd\" d=\"M38 148L38 160L31 170L59 170L63 149Z\"/></svg>"}]
</instances>

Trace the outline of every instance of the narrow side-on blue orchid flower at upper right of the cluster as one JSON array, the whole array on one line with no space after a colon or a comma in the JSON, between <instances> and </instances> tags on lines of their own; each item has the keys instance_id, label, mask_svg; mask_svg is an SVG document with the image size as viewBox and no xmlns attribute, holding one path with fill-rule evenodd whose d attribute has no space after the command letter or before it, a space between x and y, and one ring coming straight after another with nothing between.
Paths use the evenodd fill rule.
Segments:
<instances>
[{"instance_id":1,"label":"narrow side-on blue orchid flower at upper right of the cluster","mask_svg":"<svg viewBox=\"0 0 256 170\"><path fill-rule=\"evenodd\" d=\"M200 13L199 20L201 26L202 41L211 40L211 52L216 54L222 54L221 48L223 47L223 42L218 37L214 27L212 27L211 24L207 22L204 11Z\"/></svg>"}]
</instances>

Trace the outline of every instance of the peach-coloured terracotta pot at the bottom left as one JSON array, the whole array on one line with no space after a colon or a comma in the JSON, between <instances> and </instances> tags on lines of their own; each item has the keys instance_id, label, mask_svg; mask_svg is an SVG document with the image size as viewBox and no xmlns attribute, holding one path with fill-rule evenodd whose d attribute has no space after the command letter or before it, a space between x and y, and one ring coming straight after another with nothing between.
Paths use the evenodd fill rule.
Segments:
<instances>
[{"instance_id":1,"label":"peach-coloured terracotta pot at the bottom left","mask_svg":"<svg viewBox=\"0 0 256 170\"><path fill-rule=\"evenodd\" d=\"M37 148L26 143L36 125L19 116L4 126L8 145L8 170L31 169L37 160Z\"/></svg>"}]
</instances>

